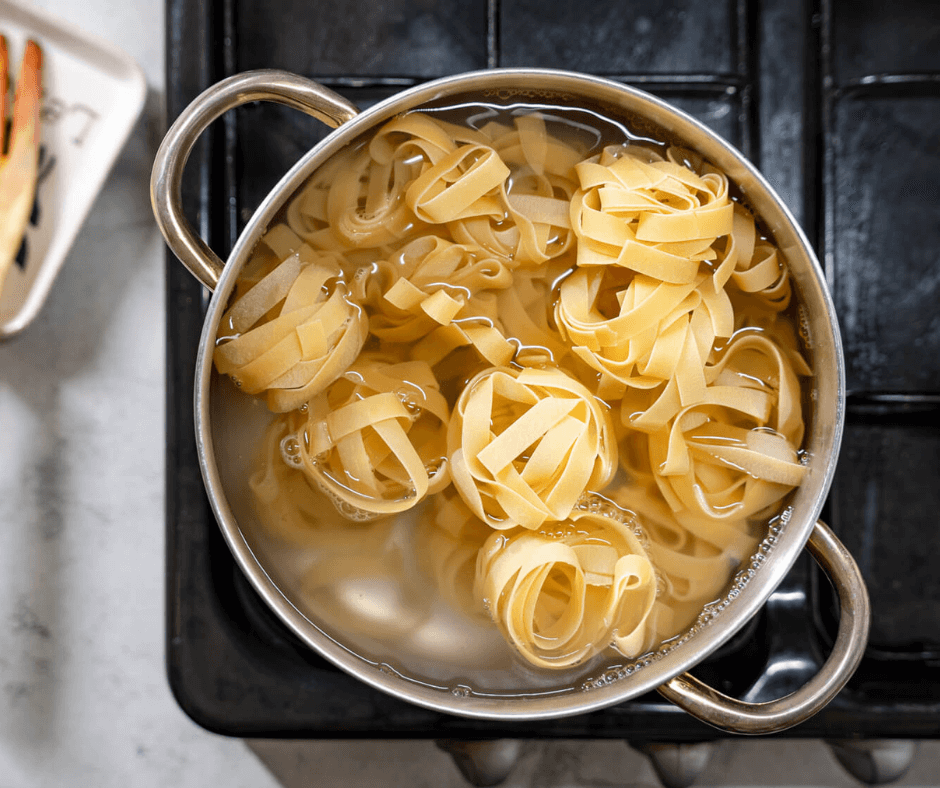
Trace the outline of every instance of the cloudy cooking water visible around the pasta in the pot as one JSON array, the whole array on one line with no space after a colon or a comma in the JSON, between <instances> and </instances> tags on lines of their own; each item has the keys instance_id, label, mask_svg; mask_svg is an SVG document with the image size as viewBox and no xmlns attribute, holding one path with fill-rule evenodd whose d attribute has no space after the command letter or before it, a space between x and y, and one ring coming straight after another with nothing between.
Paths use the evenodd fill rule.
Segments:
<instances>
[{"instance_id":1,"label":"cloudy cooking water visible around the pasta in the pot","mask_svg":"<svg viewBox=\"0 0 940 788\"><path fill-rule=\"evenodd\" d=\"M480 127L494 119L511 121L512 115L533 109L546 116L549 130L556 137L580 147L585 157L609 144L640 141L663 145L588 109L475 103L440 112L451 122ZM451 406L455 396L450 392ZM485 615L458 609L439 597L416 536L421 521L430 516L430 501L401 515L356 523L342 517L325 496L308 487L305 495L319 495L309 539L271 533L263 524L264 518L258 517L248 479L257 467L259 447L272 418L263 402L238 392L228 378L214 376L211 419L215 452L222 487L235 519L259 563L284 596L332 639L387 672L453 688L456 695L518 695L601 686L631 675L673 645L684 642L690 632L706 625L730 601L722 594L708 600L710 604L704 610L701 600L684 606L676 603L673 639L639 660L628 661L608 650L563 671L533 668L515 654ZM603 506L599 501L603 499L588 498L581 505ZM642 529L642 523L639 527ZM766 523L764 529L763 534L755 530L748 550L766 535ZM765 539L745 574L734 578L733 583L740 560L729 555L719 585L730 587L733 596L735 588L746 582L747 572L753 573L760 566L760 556L766 554L772 541Z\"/></svg>"}]
</instances>

